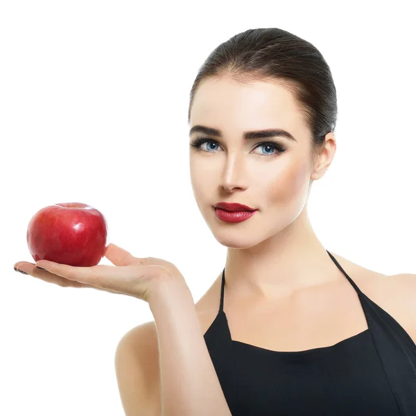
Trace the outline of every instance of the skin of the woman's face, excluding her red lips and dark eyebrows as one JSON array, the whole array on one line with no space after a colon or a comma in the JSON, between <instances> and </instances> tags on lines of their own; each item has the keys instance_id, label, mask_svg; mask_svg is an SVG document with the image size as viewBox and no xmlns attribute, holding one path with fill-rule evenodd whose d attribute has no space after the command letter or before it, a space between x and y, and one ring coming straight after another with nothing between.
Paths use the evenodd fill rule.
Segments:
<instances>
[{"instance_id":1,"label":"skin of the woman's face, excluding her red lips and dark eyebrows","mask_svg":"<svg viewBox=\"0 0 416 416\"><path fill-rule=\"evenodd\" d=\"M288 89L275 83L250 85L230 78L204 80L191 108L191 184L198 208L215 238L230 248L248 248L284 229L304 209L311 181L309 129ZM282 129L293 136L244 139L245 132ZM275 141L282 153L263 141ZM238 202L257 209L241 223L216 217L217 202Z\"/></svg>"}]
</instances>

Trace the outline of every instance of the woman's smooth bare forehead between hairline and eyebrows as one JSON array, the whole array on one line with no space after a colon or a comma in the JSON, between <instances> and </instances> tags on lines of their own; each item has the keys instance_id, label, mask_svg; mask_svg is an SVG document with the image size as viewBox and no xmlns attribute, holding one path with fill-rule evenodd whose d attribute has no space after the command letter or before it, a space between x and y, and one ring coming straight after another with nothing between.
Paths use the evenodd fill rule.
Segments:
<instances>
[{"instance_id":1,"label":"woman's smooth bare forehead between hairline and eyebrows","mask_svg":"<svg viewBox=\"0 0 416 416\"><path fill-rule=\"evenodd\" d=\"M239 130L286 128L294 133L303 125L293 95L283 85L265 81L243 84L227 77L202 81L194 96L190 122Z\"/></svg>"}]
</instances>

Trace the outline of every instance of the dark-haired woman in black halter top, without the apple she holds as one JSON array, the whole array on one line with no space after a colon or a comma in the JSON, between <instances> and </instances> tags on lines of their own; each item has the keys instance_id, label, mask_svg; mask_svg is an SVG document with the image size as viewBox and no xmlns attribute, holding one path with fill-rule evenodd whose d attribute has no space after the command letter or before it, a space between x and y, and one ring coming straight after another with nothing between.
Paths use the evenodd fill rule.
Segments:
<instances>
[{"instance_id":1,"label":"dark-haired woman in black halter top, without the apple she holds","mask_svg":"<svg viewBox=\"0 0 416 416\"><path fill-rule=\"evenodd\" d=\"M228 248L197 304L173 264L113 244L117 268L24 263L48 281L149 303L155 322L116 353L126 415L416 414L415 275L328 252L308 220L336 116L331 71L312 44L278 28L239 33L191 89L193 193Z\"/></svg>"}]
</instances>

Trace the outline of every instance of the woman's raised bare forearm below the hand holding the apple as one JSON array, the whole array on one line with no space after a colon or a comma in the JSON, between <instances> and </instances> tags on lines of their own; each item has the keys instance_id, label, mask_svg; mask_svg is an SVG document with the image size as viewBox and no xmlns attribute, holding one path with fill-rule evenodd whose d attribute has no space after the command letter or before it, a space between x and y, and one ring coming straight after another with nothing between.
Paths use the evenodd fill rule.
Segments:
<instances>
[{"instance_id":1,"label":"woman's raised bare forearm below the hand holding the apple","mask_svg":"<svg viewBox=\"0 0 416 416\"><path fill-rule=\"evenodd\" d=\"M191 291L164 284L149 301L159 343L163 416L231 416Z\"/></svg>"}]
</instances>

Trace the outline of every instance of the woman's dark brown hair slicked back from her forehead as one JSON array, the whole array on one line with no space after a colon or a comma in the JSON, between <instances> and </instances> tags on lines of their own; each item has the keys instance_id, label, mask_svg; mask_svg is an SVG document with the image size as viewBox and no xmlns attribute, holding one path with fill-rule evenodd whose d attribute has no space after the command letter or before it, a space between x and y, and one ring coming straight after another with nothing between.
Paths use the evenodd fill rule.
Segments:
<instances>
[{"instance_id":1,"label":"woman's dark brown hair slicked back from her forehead","mask_svg":"<svg viewBox=\"0 0 416 416\"><path fill-rule=\"evenodd\" d=\"M336 88L331 70L313 44L279 28L257 28L234 35L212 51L193 82L188 110L198 85L205 78L229 76L241 83L279 82L297 101L311 130L311 156L315 162L324 137L335 129Z\"/></svg>"}]
</instances>

